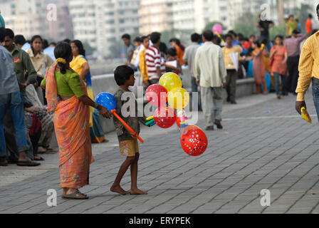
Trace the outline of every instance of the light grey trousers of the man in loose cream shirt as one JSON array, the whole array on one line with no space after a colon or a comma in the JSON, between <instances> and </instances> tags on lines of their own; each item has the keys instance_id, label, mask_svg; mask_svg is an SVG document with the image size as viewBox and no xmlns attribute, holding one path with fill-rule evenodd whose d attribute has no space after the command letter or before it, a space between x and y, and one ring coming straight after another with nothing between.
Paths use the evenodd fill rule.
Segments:
<instances>
[{"instance_id":1,"label":"light grey trousers of the man in loose cream shirt","mask_svg":"<svg viewBox=\"0 0 319 228\"><path fill-rule=\"evenodd\" d=\"M215 120L221 121L223 90L222 87L206 88L201 86L202 109L206 119L206 127L214 125Z\"/></svg>"}]
</instances>

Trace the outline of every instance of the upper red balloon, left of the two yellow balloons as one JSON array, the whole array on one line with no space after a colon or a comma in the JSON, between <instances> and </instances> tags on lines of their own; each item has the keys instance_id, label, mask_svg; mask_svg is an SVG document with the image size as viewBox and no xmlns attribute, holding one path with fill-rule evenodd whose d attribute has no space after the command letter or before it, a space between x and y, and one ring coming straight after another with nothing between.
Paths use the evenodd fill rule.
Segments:
<instances>
[{"instance_id":1,"label":"upper red balloon, left of the two yellow balloons","mask_svg":"<svg viewBox=\"0 0 319 228\"><path fill-rule=\"evenodd\" d=\"M165 105L167 103L167 89L157 84L149 86L145 92L145 98L151 105L157 107Z\"/></svg>"}]
</instances>

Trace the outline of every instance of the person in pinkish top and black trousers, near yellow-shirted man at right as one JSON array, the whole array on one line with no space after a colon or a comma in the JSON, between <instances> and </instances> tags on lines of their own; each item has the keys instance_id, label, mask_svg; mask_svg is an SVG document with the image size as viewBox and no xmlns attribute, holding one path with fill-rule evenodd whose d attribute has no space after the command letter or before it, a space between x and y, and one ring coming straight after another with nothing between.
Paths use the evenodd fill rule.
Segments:
<instances>
[{"instance_id":1,"label":"person in pinkish top and black trousers, near yellow-shirted man at right","mask_svg":"<svg viewBox=\"0 0 319 228\"><path fill-rule=\"evenodd\" d=\"M298 63L300 57L300 43L306 37L307 35L294 30L291 38L287 38L285 41L285 46L288 50L287 67L289 72L286 88L290 93L295 93L297 87L299 76Z\"/></svg>"}]
</instances>

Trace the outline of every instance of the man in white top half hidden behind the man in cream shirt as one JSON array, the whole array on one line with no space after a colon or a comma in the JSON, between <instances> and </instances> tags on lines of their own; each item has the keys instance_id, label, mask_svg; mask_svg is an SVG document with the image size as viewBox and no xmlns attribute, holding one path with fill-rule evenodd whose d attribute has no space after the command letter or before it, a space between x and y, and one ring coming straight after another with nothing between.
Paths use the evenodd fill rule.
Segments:
<instances>
[{"instance_id":1,"label":"man in white top half hidden behind the man in cream shirt","mask_svg":"<svg viewBox=\"0 0 319 228\"><path fill-rule=\"evenodd\" d=\"M185 65L188 66L189 73L191 75L192 93L198 92L198 86L196 83L196 78L194 76L194 59L195 59L197 49L199 48L200 38L201 37L198 33L193 33L191 35L192 44L185 49L185 53L183 56L184 63L185 63ZM198 104L199 111L202 110L202 105L201 105L200 101L201 100L199 98L199 104Z\"/></svg>"}]
</instances>

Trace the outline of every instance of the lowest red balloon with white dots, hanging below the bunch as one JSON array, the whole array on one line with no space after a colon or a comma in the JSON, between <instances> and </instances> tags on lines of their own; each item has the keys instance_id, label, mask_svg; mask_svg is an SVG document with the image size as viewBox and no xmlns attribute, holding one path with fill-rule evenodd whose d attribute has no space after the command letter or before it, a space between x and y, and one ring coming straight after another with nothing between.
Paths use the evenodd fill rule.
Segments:
<instances>
[{"instance_id":1,"label":"lowest red balloon with white dots, hanging below the bunch","mask_svg":"<svg viewBox=\"0 0 319 228\"><path fill-rule=\"evenodd\" d=\"M181 145L188 155L202 155L208 145L206 134L201 128L195 125L188 125L187 133L181 135Z\"/></svg>"}]
</instances>

